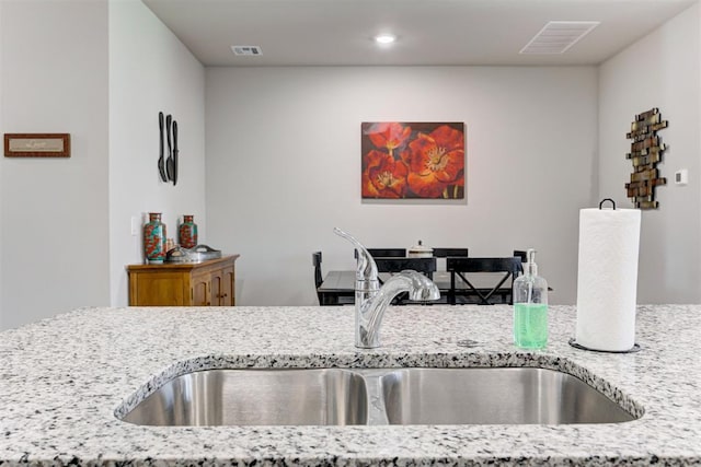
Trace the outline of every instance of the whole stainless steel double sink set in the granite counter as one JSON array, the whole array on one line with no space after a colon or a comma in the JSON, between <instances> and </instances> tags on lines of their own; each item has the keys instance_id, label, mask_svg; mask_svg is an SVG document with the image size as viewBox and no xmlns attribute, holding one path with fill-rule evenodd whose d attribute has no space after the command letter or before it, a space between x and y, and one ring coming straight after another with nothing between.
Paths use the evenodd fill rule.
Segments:
<instances>
[{"instance_id":1,"label":"whole stainless steel double sink set in the granite counter","mask_svg":"<svg viewBox=\"0 0 701 467\"><path fill-rule=\"evenodd\" d=\"M207 370L122 420L143 425L618 423L634 420L567 373L537 367Z\"/></svg>"}]
</instances>

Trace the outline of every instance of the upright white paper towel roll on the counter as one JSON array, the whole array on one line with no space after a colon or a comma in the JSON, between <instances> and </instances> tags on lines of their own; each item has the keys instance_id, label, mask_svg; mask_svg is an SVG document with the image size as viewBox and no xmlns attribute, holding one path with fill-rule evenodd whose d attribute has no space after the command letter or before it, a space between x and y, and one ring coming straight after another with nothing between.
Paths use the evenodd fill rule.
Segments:
<instances>
[{"instance_id":1,"label":"upright white paper towel roll on the counter","mask_svg":"<svg viewBox=\"0 0 701 467\"><path fill-rule=\"evenodd\" d=\"M582 209L577 275L578 345L625 351L635 343L639 209Z\"/></svg>"}]
</instances>

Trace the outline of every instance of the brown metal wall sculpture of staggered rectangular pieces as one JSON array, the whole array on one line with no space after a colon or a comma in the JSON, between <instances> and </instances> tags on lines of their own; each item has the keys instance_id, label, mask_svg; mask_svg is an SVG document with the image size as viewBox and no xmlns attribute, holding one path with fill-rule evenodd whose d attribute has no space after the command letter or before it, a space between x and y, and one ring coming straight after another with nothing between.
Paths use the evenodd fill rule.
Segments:
<instances>
[{"instance_id":1,"label":"brown metal wall sculpture of staggered rectangular pieces","mask_svg":"<svg viewBox=\"0 0 701 467\"><path fill-rule=\"evenodd\" d=\"M625 154L633 163L630 183L625 184L628 197L635 208L657 209L655 187L666 185L667 178L660 177L657 163L662 161L666 147L662 142L658 130L667 128L667 120L663 120L657 107L651 108L635 116L631 124L631 132L625 138L633 140L631 152Z\"/></svg>"}]
</instances>

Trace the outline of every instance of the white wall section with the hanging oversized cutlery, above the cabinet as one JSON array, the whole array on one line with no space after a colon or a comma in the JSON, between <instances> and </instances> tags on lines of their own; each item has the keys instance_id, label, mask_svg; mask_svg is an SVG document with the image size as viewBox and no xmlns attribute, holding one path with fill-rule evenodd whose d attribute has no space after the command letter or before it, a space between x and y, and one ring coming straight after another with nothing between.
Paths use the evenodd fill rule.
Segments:
<instances>
[{"instance_id":1,"label":"white wall section with the hanging oversized cutlery, above the cabinet","mask_svg":"<svg viewBox=\"0 0 701 467\"><path fill-rule=\"evenodd\" d=\"M140 0L110 2L112 305L127 304L125 265L143 260L145 213L162 212L174 240L177 218L194 214L206 242L204 86L204 67ZM159 112L179 125L176 186L159 177ZM135 236L131 218L139 222Z\"/></svg>"}]
</instances>

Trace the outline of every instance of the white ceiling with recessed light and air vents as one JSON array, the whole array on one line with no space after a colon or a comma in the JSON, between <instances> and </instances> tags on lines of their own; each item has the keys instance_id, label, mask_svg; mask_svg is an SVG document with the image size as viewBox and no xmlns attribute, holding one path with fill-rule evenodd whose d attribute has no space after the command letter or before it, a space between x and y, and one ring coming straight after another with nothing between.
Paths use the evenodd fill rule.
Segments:
<instances>
[{"instance_id":1,"label":"white ceiling with recessed light and air vents","mask_svg":"<svg viewBox=\"0 0 701 467\"><path fill-rule=\"evenodd\" d=\"M698 0L142 1L205 66L246 67L596 65ZM519 55L549 21L601 24L563 55Z\"/></svg>"}]
</instances>

